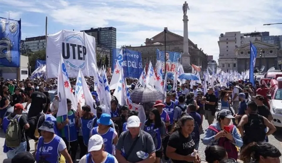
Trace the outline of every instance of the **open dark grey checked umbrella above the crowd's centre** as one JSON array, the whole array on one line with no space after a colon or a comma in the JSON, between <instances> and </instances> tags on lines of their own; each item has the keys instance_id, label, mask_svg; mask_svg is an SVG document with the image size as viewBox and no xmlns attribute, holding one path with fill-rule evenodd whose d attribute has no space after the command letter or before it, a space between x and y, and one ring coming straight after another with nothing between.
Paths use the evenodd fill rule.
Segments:
<instances>
[{"instance_id":1,"label":"open dark grey checked umbrella above the crowd's centre","mask_svg":"<svg viewBox=\"0 0 282 163\"><path fill-rule=\"evenodd\" d=\"M157 100L164 100L164 94L152 87L141 87L134 89L130 94L130 99L134 103L148 103Z\"/></svg>"}]
</instances>

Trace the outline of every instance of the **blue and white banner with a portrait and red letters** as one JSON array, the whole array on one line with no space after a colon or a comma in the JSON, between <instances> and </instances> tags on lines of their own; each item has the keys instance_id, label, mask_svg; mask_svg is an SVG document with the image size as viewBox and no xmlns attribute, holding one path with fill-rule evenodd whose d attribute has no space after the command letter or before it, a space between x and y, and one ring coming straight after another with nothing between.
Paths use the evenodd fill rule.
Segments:
<instances>
[{"instance_id":1,"label":"blue and white banner with a portrait and red letters","mask_svg":"<svg viewBox=\"0 0 282 163\"><path fill-rule=\"evenodd\" d=\"M164 61L166 62L167 77L172 79L175 69L180 66L180 52L164 52L157 49L157 65L162 67L163 77L164 77Z\"/></svg>"}]
</instances>

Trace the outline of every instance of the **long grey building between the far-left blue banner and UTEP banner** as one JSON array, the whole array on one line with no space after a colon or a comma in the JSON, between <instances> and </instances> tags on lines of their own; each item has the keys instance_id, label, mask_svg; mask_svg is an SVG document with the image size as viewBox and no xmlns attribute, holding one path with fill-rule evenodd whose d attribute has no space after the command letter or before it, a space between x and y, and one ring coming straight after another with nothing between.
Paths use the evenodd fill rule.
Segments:
<instances>
[{"instance_id":1,"label":"long grey building between the far-left blue banner and UTEP banner","mask_svg":"<svg viewBox=\"0 0 282 163\"><path fill-rule=\"evenodd\" d=\"M21 40L21 49L30 49L33 52L44 50L46 47L46 36L30 37Z\"/></svg>"}]
</instances>

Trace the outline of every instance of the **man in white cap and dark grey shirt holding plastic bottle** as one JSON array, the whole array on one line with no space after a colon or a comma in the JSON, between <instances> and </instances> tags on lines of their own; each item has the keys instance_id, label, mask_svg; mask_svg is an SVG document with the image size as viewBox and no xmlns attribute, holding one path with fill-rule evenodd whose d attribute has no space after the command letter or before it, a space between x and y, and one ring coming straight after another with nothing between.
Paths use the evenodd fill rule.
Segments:
<instances>
[{"instance_id":1,"label":"man in white cap and dark grey shirt holding plastic bottle","mask_svg":"<svg viewBox=\"0 0 282 163\"><path fill-rule=\"evenodd\" d=\"M140 129L138 116L130 116L127 119L128 130L122 132L116 145L118 162L153 163L156 160L156 148L152 136Z\"/></svg>"}]
</instances>

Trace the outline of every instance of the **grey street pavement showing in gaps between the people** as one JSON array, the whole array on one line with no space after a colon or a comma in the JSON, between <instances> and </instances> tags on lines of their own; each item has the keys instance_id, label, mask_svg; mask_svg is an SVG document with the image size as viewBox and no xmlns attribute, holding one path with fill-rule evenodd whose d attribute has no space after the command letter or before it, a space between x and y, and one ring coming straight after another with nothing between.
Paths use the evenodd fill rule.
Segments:
<instances>
[{"instance_id":1,"label":"grey street pavement showing in gaps between the people","mask_svg":"<svg viewBox=\"0 0 282 163\"><path fill-rule=\"evenodd\" d=\"M220 106L219 106L219 108L220 108ZM214 120L214 122L216 122L216 121ZM204 119L202 126L203 126L204 131L205 131L205 129L207 129L209 127L207 120ZM201 139L203 137L204 137L204 133L200 135ZM281 130L281 128L278 128L276 133L274 133L273 135L268 136L268 139L269 139L269 143L276 146L278 148L278 150L280 150L280 152L282 152L282 130ZM3 152L4 141L5 141L5 134L4 134L3 130L1 130L0 131L0 163L2 163L3 160L7 158L6 154ZM30 142L31 152L34 152L34 141L30 140L29 142ZM200 155L203 163L205 162L205 152L204 152L205 149L206 149L206 145L204 145L202 143L202 141L200 141L199 155ZM79 155L79 151L77 153L77 156L78 155ZM280 160L281 160L280 162L282 163L282 157L280 158Z\"/></svg>"}]
</instances>

